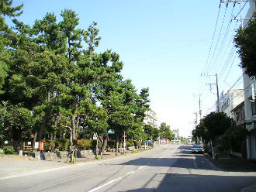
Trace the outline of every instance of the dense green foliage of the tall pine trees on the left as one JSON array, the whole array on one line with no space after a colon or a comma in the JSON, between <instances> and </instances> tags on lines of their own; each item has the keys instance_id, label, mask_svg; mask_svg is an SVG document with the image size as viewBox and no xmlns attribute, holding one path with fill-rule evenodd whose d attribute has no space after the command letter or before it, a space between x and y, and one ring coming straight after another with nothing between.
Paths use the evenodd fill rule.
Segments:
<instances>
[{"instance_id":1,"label":"dense green foliage of the tall pine trees on the left","mask_svg":"<svg viewBox=\"0 0 256 192\"><path fill-rule=\"evenodd\" d=\"M21 9L0 0L2 139L38 135L45 149L53 151L69 149L71 142L95 149L95 141L77 136L92 138L96 133L107 141L109 129L115 130L116 141L124 131L133 141L157 135L156 130L148 135L142 131L148 88L137 94L132 81L123 79L117 53L95 52L101 39L96 22L79 29L78 15L65 9L61 21L47 13L33 26L18 19L13 19L14 27L7 26L5 16L20 15Z\"/></svg>"}]
</instances>

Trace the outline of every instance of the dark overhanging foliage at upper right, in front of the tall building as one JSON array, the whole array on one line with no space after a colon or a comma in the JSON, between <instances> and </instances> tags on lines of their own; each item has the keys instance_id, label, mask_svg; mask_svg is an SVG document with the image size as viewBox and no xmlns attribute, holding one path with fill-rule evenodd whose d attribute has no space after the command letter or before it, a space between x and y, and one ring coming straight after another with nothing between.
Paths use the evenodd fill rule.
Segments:
<instances>
[{"instance_id":1,"label":"dark overhanging foliage at upper right, in front of the tall building","mask_svg":"<svg viewBox=\"0 0 256 192\"><path fill-rule=\"evenodd\" d=\"M241 63L245 73L250 77L256 77L256 13L254 18L248 21L247 27L237 30L234 37L235 46L238 48Z\"/></svg>"}]
</instances>

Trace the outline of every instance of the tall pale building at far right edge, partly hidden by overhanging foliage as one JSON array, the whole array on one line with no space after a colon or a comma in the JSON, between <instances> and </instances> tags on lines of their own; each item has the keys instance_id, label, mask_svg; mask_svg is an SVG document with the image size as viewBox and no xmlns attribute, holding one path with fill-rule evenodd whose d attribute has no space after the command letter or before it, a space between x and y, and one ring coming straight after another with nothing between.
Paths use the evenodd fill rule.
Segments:
<instances>
[{"instance_id":1,"label":"tall pale building at far right edge, partly hidden by overhanging foliage","mask_svg":"<svg viewBox=\"0 0 256 192\"><path fill-rule=\"evenodd\" d=\"M250 19L255 12L256 2L250 2L250 8L245 18ZM247 20L244 20L244 26L247 24ZM244 80L244 117L246 128L249 131L247 135L247 159L256 160L256 102L255 102L255 77L248 77L243 70Z\"/></svg>"}]
</instances>

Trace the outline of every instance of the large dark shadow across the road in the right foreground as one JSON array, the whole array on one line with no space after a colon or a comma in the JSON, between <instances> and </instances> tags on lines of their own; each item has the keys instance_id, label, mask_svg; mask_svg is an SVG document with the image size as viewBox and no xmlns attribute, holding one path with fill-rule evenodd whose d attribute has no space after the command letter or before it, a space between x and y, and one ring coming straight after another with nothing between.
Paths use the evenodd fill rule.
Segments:
<instances>
[{"instance_id":1,"label":"large dark shadow across the road in the right foreground","mask_svg":"<svg viewBox=\"0 0 256 192\"><path fill-rule=\"evenodd\" d=\"M140 189L122 190L123 192L150 192L150 191L189 191L189 192L238 192L246 186L255 183L255 177L192 175L166 173L157 188L144 186ZM147 183L150 186L150 183Z\"/></svg>"}]
</instances>

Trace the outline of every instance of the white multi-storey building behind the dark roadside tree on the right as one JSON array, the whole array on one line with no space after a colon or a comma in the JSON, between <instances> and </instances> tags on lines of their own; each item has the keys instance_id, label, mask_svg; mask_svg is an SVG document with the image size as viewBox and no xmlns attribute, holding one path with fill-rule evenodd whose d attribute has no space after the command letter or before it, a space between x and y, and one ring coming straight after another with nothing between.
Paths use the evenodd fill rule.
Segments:
<instances>
[{"instance_id":1,"label":"white multi-storey building behind the dark roadside tree on the right","mask_svg":"<svg viewBox=\"0 0 256 192\"><path fill-rule=\"evenodd\" d=\"M230 89L226 94L223 94L222 91L220 94L220 111L226 113L228 117L234 118L231 111L243 101L244 89Z\"/></svg>"}]
</instances>

